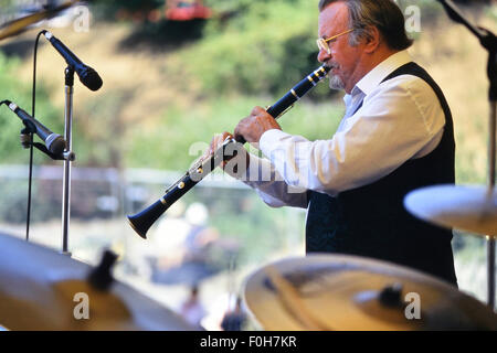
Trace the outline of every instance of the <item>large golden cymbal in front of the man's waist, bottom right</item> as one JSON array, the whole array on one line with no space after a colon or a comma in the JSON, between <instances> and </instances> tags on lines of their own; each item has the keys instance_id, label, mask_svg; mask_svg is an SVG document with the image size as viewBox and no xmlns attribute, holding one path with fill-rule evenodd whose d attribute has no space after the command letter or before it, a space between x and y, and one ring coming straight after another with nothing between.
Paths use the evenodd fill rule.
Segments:
<instances>
[{"instance_id":1,"label":"large golden cymbal in front of the man's waist, bottom right","mask_svg":"<svg viewBox=\"0 0 497 353\"><path fill-rule=\"evenodd\" d=\"M490 308L450 284L387 261L315 254L248 276L244 299L268 331L496 330Z\"/></svg>"}]
</instances>

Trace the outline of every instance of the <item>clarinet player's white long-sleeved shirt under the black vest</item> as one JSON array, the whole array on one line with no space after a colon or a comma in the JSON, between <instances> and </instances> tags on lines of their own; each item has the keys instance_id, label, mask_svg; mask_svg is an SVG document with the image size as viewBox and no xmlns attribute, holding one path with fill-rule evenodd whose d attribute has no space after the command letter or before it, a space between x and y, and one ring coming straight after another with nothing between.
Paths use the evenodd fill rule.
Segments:
<instances>
[{"instance_id":1,"label":"clarinet player's white long-sleeved shirt under the black vest","mask_svg":"<svg viewBox=\"0 0 497 353\"><path fill-rule=\"evenodd\" d=\"M267 159L251 154L244 182L271 206L307 207L306 190L335 196L432 152L445 125L434 90L412 75L381 83L411 61L408 51L395 53L362 77L345 96L346 115L329 140L265 131L260 149Z\"/></svg>"}]
</instances>

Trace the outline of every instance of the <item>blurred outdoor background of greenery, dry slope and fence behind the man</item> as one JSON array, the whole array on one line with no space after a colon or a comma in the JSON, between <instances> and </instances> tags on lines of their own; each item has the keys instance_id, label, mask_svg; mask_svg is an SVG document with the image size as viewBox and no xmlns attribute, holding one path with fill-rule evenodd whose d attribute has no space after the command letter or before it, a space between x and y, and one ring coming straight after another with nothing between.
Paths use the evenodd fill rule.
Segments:
<instances>
[{"instance_id":1,"label":"blurred outdoor background of greenery, dry slope and fence behind the man","mask_svg":"<svg viewBox=\"0 0 497 353\"><path fill-rule=\"evenodd\" d=\"M0 0L0 25L63 1ZM496 32L493 1L455 1ZM253 106L267 106L319 66L317 3L309 0L88 1L0 41L0 98L31 111L33 47L50 30L104 81L74 92L70 250L96 264L119 255L116 277L191 315L209 330L235 310L243 282L264 264L304 255L305 211L269 208L253 191L216 171L177 202L141 239L127 224L157 201ZM452 107L458 184L486 184L486 52L436 1L399 0L412 56ZM40 41L36 117L64 131L63 58ZM327 139L343 114L342 93L318 86L279 120L284 130ZM29 151L21 121L0 108L0 231L25 236ZM62 248L62 162L35 151L31 242ZM486 301L486 245L455 232L459 287ZM187 313L191 303L199 307ZM242 308L243 310L243 308ZM244 329L257 329L247 320Z\"/></svg>"}]
</instances>

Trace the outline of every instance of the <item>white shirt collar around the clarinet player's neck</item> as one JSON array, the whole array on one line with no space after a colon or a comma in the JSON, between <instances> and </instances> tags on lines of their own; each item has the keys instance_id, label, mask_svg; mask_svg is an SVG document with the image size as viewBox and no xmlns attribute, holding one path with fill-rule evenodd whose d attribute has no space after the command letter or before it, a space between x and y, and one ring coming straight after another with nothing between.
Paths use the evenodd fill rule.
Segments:
<instances>
[{"instance_id":1,"label":"white shirt collar around the clarinet player's neck","mask_svg":"<svg viewBox=\"0 0 497 353\"><path fill-rule=\"evenodd\" d=\"M378 87L384 77L410 62L412 62L412 58L406 50L392 54L366 74L364 77L356 84L353 89L359 88L366 95L369 95L376 87ZM352 95L353 89L351 92Z\"/></svg>"}]
</instances>

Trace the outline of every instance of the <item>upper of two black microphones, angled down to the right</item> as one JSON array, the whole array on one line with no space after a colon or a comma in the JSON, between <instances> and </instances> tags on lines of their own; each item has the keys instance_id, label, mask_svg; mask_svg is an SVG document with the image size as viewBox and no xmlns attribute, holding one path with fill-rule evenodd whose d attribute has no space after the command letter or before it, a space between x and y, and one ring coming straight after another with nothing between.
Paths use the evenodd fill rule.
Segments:
<instances>
[{"instance_id":1,"label":"upper of two black microphones, angled down to the right","mask_svg":"<svg viewBox=\"0 0 497 353\"><path fill-rule=\"evenodd\" d=\"M83 85L88 87L91 90L97 90L102 87L102 78L95 69L83 64L82 61L77 58L77 56L74 55L73 52L71 52L67 46L57 40L51 32L44 30L43 34L49 42L52 43L53 47L55 47L56 51L64 57L67 65L74 68Z\"/></svg>"}]
</instances>

